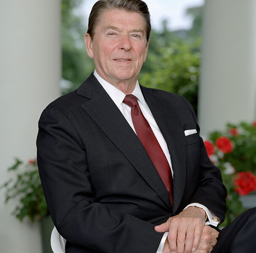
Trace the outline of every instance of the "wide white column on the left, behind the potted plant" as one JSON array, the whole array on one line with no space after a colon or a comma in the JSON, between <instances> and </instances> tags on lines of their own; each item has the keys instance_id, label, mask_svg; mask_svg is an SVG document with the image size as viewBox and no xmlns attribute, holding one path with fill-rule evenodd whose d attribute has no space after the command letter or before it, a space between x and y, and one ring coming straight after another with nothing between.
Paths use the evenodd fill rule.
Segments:
<instances>
[{"instance_id":1,"label":"wide white column on the left, behind the potted plant","mask_svg":"<svg viewBox=\"0 0 256 253\"><path fill-rule=\"evenodd\" d=\"M0 7L0 184L14 157L36 157L38 118L60 95L60 0L7 0ZM11 215L0 191L0 251L41 253L38 223Z\"/></svg>"}]
</instances>

